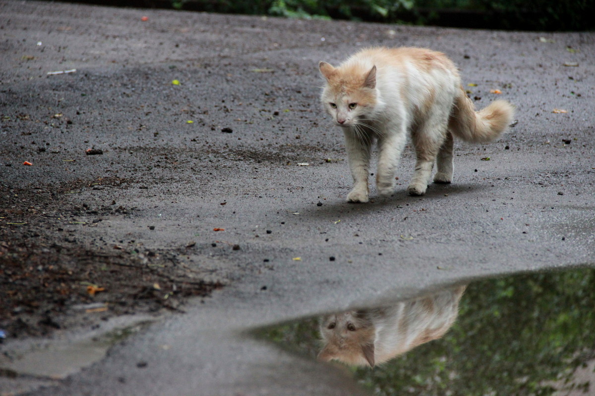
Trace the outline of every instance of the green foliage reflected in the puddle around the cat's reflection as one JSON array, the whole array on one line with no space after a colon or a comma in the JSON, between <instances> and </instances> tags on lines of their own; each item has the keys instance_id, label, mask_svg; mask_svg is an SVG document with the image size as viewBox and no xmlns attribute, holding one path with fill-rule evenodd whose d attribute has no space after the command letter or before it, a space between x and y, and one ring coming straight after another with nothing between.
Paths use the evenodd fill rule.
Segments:
<instances>
[{"instance_id":1,"label":"green foliage reflected in the puddle around the cat's reflection","mask_svg":"<svg viewBox=\"0 0 595 396\"><path fill-rule=\"evenodd\" d=\"M300 326L270 331L315 356L315 344L308 344L316 340L315 321ZM595 357L593 329L594 269L478 281L468 286L445 337L373 370L354 371L362 385L383 396L551 395L554 381L569 381Z\"/></svg>"}]
</instances>

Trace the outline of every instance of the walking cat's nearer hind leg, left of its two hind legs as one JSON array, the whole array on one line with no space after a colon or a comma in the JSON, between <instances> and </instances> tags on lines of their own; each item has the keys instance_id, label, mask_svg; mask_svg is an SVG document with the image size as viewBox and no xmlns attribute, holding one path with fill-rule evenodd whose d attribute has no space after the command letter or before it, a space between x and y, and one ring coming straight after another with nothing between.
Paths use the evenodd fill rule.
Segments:
<instances>
[{"instance_id":1,"label":"walking cat's nearer hind leg, left of its two hind legs","mask_svg":"<svg viewBox=\"0 0 595 396\"><path fill-rule=\"evenodd\" d=\"M415 147L415 172L407 187L409 195L424 195L432 175L434 161L446 137L448 114L434 111L411 132Z\"/></svg>"}]
</instances>

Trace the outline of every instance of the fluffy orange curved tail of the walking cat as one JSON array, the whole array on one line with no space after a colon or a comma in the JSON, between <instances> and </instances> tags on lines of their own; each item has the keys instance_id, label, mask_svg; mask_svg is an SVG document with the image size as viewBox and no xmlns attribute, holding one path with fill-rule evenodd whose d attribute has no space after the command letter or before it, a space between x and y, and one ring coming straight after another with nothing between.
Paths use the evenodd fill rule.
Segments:
<instances>
[{"instance_id":1,"label":"fluffy orange curved tail of the walking cat","mask_svg":"<svg viewBox=\"0 0 595 396\"><path fill-rule=\"evenodd\" d=\"M476 112L473 102L461 87L461 94L456 97L450 115L449 129L456 137L468 142L489 142L506 131L514 115L514 107L506 100L496 100Z\"/></svg>"}]
</instances>

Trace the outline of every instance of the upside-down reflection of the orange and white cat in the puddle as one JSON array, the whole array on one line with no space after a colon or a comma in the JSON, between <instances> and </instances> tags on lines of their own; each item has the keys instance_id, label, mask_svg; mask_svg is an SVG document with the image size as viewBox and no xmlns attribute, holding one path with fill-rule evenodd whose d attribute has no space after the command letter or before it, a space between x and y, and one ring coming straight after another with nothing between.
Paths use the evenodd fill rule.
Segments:
<instances>
[{"instance_id":1,"label":"upside-down reflection of the orange and white cat in the puddle","mask_svg":"<svg viewBox=\"0 0 595 396\"><path fill-rule=\"evenodd\" d=\"M318 359L373 368L436 340L455 322L464 291L459 286L396 305L322 316Z\"/></svg>"}]
</instances>

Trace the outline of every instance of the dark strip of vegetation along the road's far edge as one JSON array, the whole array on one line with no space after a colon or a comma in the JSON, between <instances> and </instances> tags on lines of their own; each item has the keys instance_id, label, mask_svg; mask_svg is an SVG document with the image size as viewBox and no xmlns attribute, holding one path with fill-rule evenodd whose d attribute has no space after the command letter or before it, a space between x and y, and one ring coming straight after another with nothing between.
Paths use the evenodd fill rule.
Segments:
<instances>
[{"instance_id":1,"label":"dark strip of vegetation along the road's far edge","mask_svg":"<svg viewBox=\"0 0 595 396\"><path fill-rule=\"evenodd\" d=\"M77 1L77 0L74 0ZM91 4L506 30L593 30L595 0L79 0Z\"/></svg>"}]
</instances>

